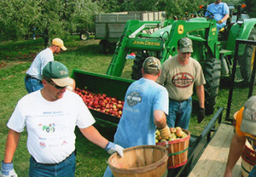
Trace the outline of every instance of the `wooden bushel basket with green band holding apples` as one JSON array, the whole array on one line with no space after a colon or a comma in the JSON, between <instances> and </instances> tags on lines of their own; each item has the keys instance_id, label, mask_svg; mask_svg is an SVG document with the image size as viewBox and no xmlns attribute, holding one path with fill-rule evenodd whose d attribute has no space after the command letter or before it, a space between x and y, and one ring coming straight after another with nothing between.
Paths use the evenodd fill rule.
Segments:
<instances>
[{"instance_id":1,"label":"wooden bushel basket with green band holding apples","mask_svg":"<svg viewBox=\"0 0 256 177\"><path fill-rule=\"evenodd\" d=\"M188 136L183 139L156 143L157 146L166 147L168 151L168 168L178 168L188 162L190 132L186 129L183 129L183 132L188 134Z\"/></svg>"}]
</instances>

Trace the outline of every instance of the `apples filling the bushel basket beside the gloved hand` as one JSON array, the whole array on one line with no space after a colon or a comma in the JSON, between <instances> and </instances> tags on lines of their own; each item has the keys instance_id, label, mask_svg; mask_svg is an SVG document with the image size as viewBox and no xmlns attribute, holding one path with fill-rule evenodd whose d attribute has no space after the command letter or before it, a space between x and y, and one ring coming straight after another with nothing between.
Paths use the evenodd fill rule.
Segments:
<instances>
[{"instance_id":1,"label":"apples filling the bushel basket beside the gloved hand","mask_svg":"<svg viewBox=\"0 0 256 177\"><path fill-rule=\"evenodd\" d=\"M162 139L162 137L160 136L160 131L158 129L156 129L156 131L155 131L155 143L169 141L169 140L183 139L183 138L188 136L188 134L186 134L183 131L183 129L180 128L180 127L170 128L170 131L171 131L171 138L166 140L166 139Z\"/></svg>"}]
</instances>

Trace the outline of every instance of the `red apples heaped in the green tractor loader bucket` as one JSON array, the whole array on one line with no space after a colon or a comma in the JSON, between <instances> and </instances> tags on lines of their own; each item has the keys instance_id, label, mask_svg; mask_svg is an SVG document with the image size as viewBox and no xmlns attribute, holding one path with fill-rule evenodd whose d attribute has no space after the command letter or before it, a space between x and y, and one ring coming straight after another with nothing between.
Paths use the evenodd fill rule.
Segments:
<instances>
[{"instance_id":1,"label":"red apples heaped in the green tractor loader bucket","mask_svg":"<svg viewBox=\"0 0 256 177\"><path fill-rule=\"evenodd\" d=\"M114 117L122 116L125 101L107 94L95 94L85 88L75 88L74 92L79 94L89 109L101 111Z\"/></svg>"}]
</instances>

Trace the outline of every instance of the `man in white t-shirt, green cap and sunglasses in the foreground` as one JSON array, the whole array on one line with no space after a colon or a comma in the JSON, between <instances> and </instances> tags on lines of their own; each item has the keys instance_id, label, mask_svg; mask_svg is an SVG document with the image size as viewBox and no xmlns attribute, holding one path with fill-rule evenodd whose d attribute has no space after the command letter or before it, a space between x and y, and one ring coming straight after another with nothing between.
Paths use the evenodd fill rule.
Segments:
<instances>
[{"instance_id":1,"label":"man in white t-shirt, green cap and sunglasses in the foreground","mask_svg":"<svg viewBox=\"0 0 256 177\"><path fill-rule=\"evenodd\" d=\"M92 126L94 117L78 94L67 90L73 83L67 67L49 61L43 70L44 88L26 94L15 107L7 124L9 133L0 172L15 176L13 157L20 133L26 126L27 150L31 154L29 176L72 177L75 171L75 127L97 146L112 154L123 148L106 140Z\"/></svg>"}]
</instances>

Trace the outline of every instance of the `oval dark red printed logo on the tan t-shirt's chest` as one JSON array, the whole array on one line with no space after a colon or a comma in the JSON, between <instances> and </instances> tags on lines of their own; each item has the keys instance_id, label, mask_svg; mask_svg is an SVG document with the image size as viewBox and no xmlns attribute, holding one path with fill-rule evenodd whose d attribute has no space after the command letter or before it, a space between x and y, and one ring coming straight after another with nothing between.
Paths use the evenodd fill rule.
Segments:
<instances>
[{"instance_id":1,"label":"oval dark red printed logo on the tan t-shirt's chest","mask_svg":"<svg viewBox=\"0 0 256 177\"><path fill-rule=\"evenodd\" d=\"M188 88L194 83L194 77L188 72L179 72L172 77L172 84L177 88Z\"/></svg>"}]
</instances>

